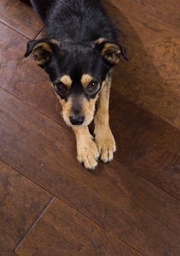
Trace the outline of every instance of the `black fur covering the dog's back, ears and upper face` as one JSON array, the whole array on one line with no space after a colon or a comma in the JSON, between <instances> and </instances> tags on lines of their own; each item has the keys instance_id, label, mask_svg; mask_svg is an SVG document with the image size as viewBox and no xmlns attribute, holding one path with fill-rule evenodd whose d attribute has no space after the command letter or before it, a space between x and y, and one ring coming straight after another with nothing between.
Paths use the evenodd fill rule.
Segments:
<instances>
[{"instance_id":1,"label":"black fur covering the dog's back, ears and upper face","mask_svg":"<svg viewBox=\"0 0 180 256\"><path fill-rule=\"evenodd\" d=\"M31 4L44 22L46 38L29 41L25 56L34 53L61 99L68 100L71 94L93 99L120 52L128 60L106 12L97 0L31 0ZM59 90L59 79L66 74L73 81L71 89ZM83 74L98 84L91 93L80 84Z\"/></svg>"}]
</instances>

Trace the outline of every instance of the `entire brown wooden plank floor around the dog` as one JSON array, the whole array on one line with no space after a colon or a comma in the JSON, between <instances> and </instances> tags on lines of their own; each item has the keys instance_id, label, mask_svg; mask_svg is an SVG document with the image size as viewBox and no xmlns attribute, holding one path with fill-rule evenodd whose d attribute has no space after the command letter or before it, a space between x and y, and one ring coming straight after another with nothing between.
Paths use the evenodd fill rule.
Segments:
<instances>
[{"instance_id":1,"label":"entire brown wooden plank floor around the dog","mask_svg":"<svg viewBox=\"0 0 180 256\"><path fill-rule=\"evenodd\" d=\"M127 47L110 97L115 159L88 172L26 43L43 25L2 0L0 255L180 255L179 1L102 3Z\"/></svg>"}]
</instances>

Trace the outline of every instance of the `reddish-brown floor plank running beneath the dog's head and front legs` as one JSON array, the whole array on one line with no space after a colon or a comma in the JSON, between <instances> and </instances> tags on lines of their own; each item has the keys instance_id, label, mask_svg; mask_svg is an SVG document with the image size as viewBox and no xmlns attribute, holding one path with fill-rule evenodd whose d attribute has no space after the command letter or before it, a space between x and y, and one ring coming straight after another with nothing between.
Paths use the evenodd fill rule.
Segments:
<instances>
[{"instance_id":1,"label":"reddish-brown floor plank running beneath the dog's head and front legs","mask_svg":"<svg viewBox=\"0 0 180 256\"><path fill-rule=\"evenodd\" d=\"M26 38L17 36L17 32L14 32L8 27L1 26L1 31L2 40L4 40L1 56L5 60L5 64L0 70L2 87L34 108L39 109L53 120L58 121L61 125L67 127L61 115L59 115L62 109L49 85L46 74L36 66L34 61L29 61L22 56L21 49L25 47ZM8 36L12 38L14 43L10 43ZM119 86L118 78L119 81L123 81L121 70L113 79L113 88L115 87L115 90ZM124 86L119 88L124 88ZM137 90L137 94L138 92L139 90ZM124 94L123 91L122 93ZM128 93L128 89L125 91L126 93ZM136 98L133 98L133 100L136 101ZM176 101L179 102L178 97ZM171 106L175 106L175 104ZM175 108L179 111L178 106L175 106ZM136 114L136 118L134 117L134 113L138 113ZM167 114L168 112L166 112ZM178 118L178 115L175 116ZM132 118L135 118L135 123L131 122ZM142 122L143 118L145 118L145 121ZM150 124L151 131L149 128ZM124 163L124 165L136 169L139 174L179 198L180 153L178 145L180 141L178 130L165 124L132 102L125 100L121 94L115 93L113 89L110 97L110 125L112 126L112 131L115 134L118 145L115 158ZM69 127L67 128L70 129ZM170 133L169 131L172 132ZM149 133L151 133L151 141L149 140ZM141 139L141 144L139 143L139 139ZM132 140L134 141L133 144ZM137 145L139 145L139 148L136 148ZM155 154L153 158L152 153ZM136 163L132 156L135 157ZM147 168L148 171L146 171Z\"/></svg>"}]
</instances>

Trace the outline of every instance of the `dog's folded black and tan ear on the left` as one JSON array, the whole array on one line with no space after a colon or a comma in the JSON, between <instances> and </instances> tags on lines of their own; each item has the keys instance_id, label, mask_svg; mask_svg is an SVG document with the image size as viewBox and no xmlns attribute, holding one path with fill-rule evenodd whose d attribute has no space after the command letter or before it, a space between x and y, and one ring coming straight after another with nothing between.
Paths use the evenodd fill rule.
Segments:
<instances>
[{"instance_id":1,"label":"dog's folded black and tan ear on the left","mask_svg":"<svg viewBox=\"0 0 180 256\"><path fill-rule=\"evenodd\" d=\"M55 39L31 40L28 41L25 57L33 53L37 65L44 68L59 46L60 43Z\"/></svg>"}]
</instances>

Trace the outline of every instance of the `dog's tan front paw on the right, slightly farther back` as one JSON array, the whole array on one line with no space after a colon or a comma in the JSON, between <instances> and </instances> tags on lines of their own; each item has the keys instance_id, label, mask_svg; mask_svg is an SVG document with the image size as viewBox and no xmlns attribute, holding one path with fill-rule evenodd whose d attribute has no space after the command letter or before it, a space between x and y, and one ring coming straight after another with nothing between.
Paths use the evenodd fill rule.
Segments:
<instances>
[{"instance_id":1,"label":"dog's tan front paw on the right, slightly farther back","mask_svg":"<svg viewBox=\"0 0 180 256\"><path fill-rule=\"evenodd\" d=\"M116 151L116 142L110 128L97 132L95 143L100 152L100 159L104 163L110 162L113 159L113 153Z\"/></svg>"}]
</instances>

